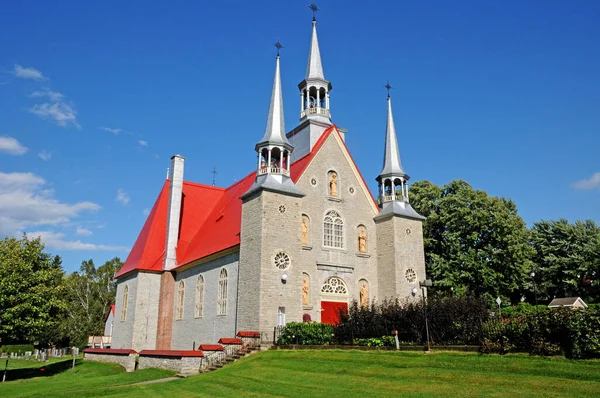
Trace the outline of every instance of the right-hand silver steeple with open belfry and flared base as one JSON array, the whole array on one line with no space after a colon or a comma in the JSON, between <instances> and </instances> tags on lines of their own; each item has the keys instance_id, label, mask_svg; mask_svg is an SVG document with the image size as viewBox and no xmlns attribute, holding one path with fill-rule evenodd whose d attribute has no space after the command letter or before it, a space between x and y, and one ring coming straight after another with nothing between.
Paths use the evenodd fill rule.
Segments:
<instances>
[{"instance_id":1,"label":"right-hand silver steeple with open belfry and flared base","mask_svg":"<svg viewBox=\"0 0 600 398\"><path fill-rule=\"evenodd\" d=\"M398 150L398 138L396 137L396 126L392 115L392 97L390 95L390 83L385 85L388 90L388 116L385 132L385 149L383 151L383 169L377 182L379 182L379 205L381 212L376 217L381 219L392 215L406 218L424 220L408 203L408 180L410 177L404 172L400 162L400 151Z\"/></svg>"}]
</instances>

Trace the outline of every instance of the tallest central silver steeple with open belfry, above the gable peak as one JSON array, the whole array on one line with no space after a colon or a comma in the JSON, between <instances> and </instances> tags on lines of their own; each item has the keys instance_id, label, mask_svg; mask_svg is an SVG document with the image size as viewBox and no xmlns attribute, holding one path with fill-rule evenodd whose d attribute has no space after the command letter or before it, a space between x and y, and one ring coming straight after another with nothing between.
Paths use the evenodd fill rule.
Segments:
<instances>
[{"instance_id":1,"label":"tallest central silver steeple with open belfry, above the gable peak","mask_svg":"<svg viewBox=\"0 0 600 398\"><path fill-rule=\"evenodd\" d=\"M317 38L317 18L315 14L319 9L314 2L309 8L313 11L312 37L310 40L308 64L306 66L306 78L298 84L301 96L300 121L303 122L306 119L311 119L331 124L329 92L332 87L331 83L325 79L325 74L323 73L319 39Z\"/></svg>"}]
</instances>

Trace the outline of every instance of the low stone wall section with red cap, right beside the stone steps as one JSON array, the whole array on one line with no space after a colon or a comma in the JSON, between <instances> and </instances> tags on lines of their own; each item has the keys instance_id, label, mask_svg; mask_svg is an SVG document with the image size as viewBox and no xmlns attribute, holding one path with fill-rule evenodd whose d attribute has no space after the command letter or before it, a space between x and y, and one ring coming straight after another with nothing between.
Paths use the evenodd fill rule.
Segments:
<instances>
[{"instance_id":1,"label":"low stone wall section with red cap, right beside the stone steps","mask_svg":"<svg viewBox=\"0 0 600 398\"><path fill-rule=\"evenodd\" d=\"M184 374L200 371L204 362L202 351L142 350L138 369L168 369Z\"/></svg>"}]
</instances>

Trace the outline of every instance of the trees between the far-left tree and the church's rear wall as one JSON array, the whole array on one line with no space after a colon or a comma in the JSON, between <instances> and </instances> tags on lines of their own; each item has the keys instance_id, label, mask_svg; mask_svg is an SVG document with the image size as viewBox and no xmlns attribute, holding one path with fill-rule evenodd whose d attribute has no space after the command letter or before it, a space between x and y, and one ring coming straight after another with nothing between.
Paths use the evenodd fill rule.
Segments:
<instances>
[{"instance_id":1,"label":"trees between the far-left tree and the church's rear wall","mask_svg":"<svg viewBox=\"0 0 600 398\"><path fill-rule=\"evenodd\" d=\"M79 272L66 279L68 318L65 333L73 344L83 346L88 336L104 334L104 319L114 304L115 274L123 263L118 257L96 268L93 260L83 261Z\"/></svg>"}]
</instances>

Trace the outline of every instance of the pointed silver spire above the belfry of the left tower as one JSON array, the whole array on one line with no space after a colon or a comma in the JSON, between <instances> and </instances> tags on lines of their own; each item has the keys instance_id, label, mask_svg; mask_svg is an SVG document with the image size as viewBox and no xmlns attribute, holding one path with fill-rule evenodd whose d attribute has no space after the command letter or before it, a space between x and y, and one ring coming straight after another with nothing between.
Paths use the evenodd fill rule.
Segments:
<instances>
[{"instance_id":1,"label":"pointed silver spire above the belfry of the left tower","mask_svg":"<svg viewBox=\"0 0 600 398\"><path fill-rule=\"evenodd\" d=\"M271 93L271 104L269 106L269 115L267 116L267 127L262 140L256 144L256 149L265 144L283 145L287 149L292 145L285 136L285 122L283 117L283 96L281 94L281 75L279 70L279 50L283 48L281 43L275 43L277 47L277 57L275 58L275 78L273 80L273 91Z\"/></svg>"}]
</instances>

